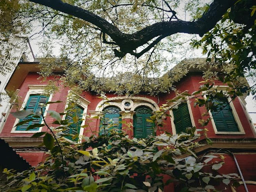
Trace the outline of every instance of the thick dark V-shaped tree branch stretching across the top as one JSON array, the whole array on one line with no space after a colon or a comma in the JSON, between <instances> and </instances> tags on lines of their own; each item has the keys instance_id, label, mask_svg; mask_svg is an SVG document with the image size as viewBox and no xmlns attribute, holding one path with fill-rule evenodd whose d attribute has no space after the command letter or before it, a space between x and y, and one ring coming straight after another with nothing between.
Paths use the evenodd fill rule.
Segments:
<instances>
[{"instance_id":1,"label":"thick dark V-shaped tree branch stretching across the top","mask_svg":"<svg viewBox=\"0 0 256 192\"><path fill-rule=\"evenodd\" d=\"M165 37L178 32L199 34L200 36L202 36L205 32L214 27L216 22L221 19L221 16L226 12L226 10L236 2L236 0L213 0L213 2L209 6L208 11L204 13L197 21L162 21L146 26L135 33L128 34L121 32L116 26L109 23L102 17L78 6L64 3L61 0L29 1L51 7L55 10L76 16L80 19L94 24L101 29L102 33L106 33L112 38L112 41L120 47L119 52L121 52L121 55L123 56L126 53L134 55L134 50L137 47L144 45L149 40L157 36ZM146 49L148 49L148 47L146 47ZM147 50L142 50L141 53L144 53L146 51ZM138 55L137 57L141 55L142 54Z\"/></svg>"}]
</instances>

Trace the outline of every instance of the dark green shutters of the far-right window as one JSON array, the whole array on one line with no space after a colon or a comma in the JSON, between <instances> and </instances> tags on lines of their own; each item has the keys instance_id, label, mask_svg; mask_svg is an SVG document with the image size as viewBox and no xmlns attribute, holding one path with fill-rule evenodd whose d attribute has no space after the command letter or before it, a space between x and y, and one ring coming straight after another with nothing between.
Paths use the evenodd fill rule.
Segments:
<instances>
[{"instance_id":1,"label":"dark green shutters of the far-right window","mask_svg":"<svg viewBox=\"0 0 256 192\"><path fill-rule=\"evenodd\" d=\"M213 102L217 104L217 110L211 111L217 131L239 131L228 101L213 100Z\"/></svg>"}]
</instances>

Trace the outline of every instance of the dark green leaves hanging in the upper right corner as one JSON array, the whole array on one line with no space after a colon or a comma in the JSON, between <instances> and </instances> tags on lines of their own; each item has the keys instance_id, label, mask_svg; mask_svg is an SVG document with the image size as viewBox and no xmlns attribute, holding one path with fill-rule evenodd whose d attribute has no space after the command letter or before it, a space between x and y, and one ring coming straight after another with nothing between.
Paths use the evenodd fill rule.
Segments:
<instances>
[{"instance_id":1,"label":"dark green leaves hanging in the upper right corner","mask_svg":"<svg viewBox=\"0 0 256 192\"><path fill-rule=\"evenodd\" d=\"M200 40L192 40L195 47L202 47L208 61L214 58L220 67L228 67L224 82L237 77L253 78L256 66L256 14L253 0L237 0L222 19ZM234 11L236 11L234 13ZM234 83L234 84L235 84ZM254 93L252 83L252 92ZM235 85L234 85L235 86Z\"/></svg>"}]
</instances>

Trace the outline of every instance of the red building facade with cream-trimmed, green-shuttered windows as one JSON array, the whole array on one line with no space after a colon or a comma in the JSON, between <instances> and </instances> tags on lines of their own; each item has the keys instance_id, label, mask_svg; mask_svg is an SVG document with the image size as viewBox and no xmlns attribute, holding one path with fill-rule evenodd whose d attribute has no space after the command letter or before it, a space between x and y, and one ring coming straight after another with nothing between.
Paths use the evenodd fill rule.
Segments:
<instances>
[{"instance_id":1,"label":"red building facade with cream-trimmed, green-shuttered windows","mask_svg":"<svg viewBox=\"0 0 256 192\"><path fill-rule=\"evenodd\" d=\"M19 97L19 105L12 103L10 111L20 109L30 109L38 111L40 103L47 101L61 100L63 102L51 103L43 108L43 112L47 110L55 110L63 112L68 106L67 96L70 94L68 87L60 85L59 90L49 96L42 95L43 89L47 81L53 79L53 76L47 77L46 81L41 82L39 78L38 62L19 62L18 68L15 69L10 77L5 90L16 90ZM56 71L60 72L60 71ZM179 92L187 91L192 93L202 85L202 71L190 69L186 76L183 76L175 83ZM214 84L219 91L225 91L227 86L216 80ZM84 116L83 121L78 121L75 125L68 127L66 133L74 133L84 136L91 134L107 134L108 129L100 129L103 125L109 123L109 119L113 121L113 127L124 128L119 123L119 119L131 123L133 128L125 130L130 137L145 138L154 134L152 131L152 123L146 121L153 111L159 110L159 106L166 103L166 100L174 98L176 95L172 91L170 93L159 93L156 96L148 94L137 95L121 95L117 96L107 93L107 103L97 97L94 92L84 91L76 98L76 115ZM200 154L207 154L211 151L221 154L225 157L225 164L218 170L220 174L234 172L243 179L239 180L241 185L238 188L228 188L226 191L256 191L256 132L251 119L245 108L244 97L236 97L234 100L227 99L219 103L225 106L219 112L212 112L211 121L203 128L207 128L207 136L212 140L212 144L206 144L205 137L201 136L199 141L205 143L196 149ZM193 106L193 99L187 100L178 105L177 108L169 111L172 118L167 117L164 120L164 126L161 130L156 131L156 135L164 131L176 134L185 131L186 127L195 126L202 128L198 119L206 111L205 107ZM90 117L98 114L104 114L104 119L94 119L90 122L91 130L81 127L86 122L86 115ZM67 113L62 119L71 119L73 113ZM42 119L36 119L31 123L40 123ZM54 119L46 115L46 122L53 122ZM0 138L23 157L30 165L35 166L45 158L46 149L38 147L42 142L42 138L31 138L35 132L47 131L45 126L26 130L29 123L15 126L19 119L11 114L6 114L5 124L0 132ZM78 142L77 139L68 138L72 142ZM221 159L219 159L221 160ZM171 186L173 187L173 186ZM166 191L174 191L174 188L166 189ZM176 191L178 191L176 189Z\"/></svg>"}]
</instances>

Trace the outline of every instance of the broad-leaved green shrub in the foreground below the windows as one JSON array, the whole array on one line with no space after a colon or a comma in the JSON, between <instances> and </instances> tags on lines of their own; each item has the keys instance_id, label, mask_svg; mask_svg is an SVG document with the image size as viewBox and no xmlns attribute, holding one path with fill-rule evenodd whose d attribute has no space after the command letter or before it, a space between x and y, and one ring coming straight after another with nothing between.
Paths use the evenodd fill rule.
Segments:
<instances>
[{"instance_id":1,"label":"broad-leaved green shrub in the foreground below the windows","mask_svg":"<svg viewBox=\"0 0 256 192\"><path fill-rule=\"evenodd\" d=\"M205 83L201 91L210 90L212 85L207 85ZM169 103L179 103L187 95L184 93ZM55 102L61 101L46 104ZM155 121L156 126L163 123L167 105L151 116L150 121ZM74 105L69 105L66 110L74 111ZM194 133L195 127L188 128L187 133L171 135L165 132L144 139L129 138L125 128L122 131L112 128L109 135L96 137L92 133L90 137L80 138L82 142L75 143L65 139L69 135L61 131L78 121L78 117L70 122L61 120L60 115L65 113L48 111L48 114L55 119L53 124L57 126L49 127L43 117L43 124L27 127L27 130L44 125L48 127L47 132L32 135L43 136L43 145L49 150L48 157L38 166L21 173L4 169L6 181L1 183L1 191L162 191L171 182L179 184L182 191L206 191L214 189L217 183L228 185L230 180L238 178L234 173L218 174L217 170L224 163L221 156L196 156L193 149L200 146L196 142L200 135ZM23 110L13 115L30 117L17 126L38 118L39 114ZM85 127L88 128L89 124ZM205 172L209 170L207 167L211 168L210 172Z\"/></svg>"}]
</instances>

